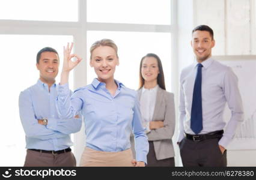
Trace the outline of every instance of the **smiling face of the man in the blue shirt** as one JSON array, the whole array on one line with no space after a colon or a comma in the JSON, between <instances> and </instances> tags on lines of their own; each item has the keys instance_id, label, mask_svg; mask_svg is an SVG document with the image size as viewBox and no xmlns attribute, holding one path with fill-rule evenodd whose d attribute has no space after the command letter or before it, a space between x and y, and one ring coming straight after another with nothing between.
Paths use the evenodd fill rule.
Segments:
<instances>
[{"instance_id":1,"label":"smiling face of the man in the blue shirt","mask_svg":"<svg viewBox=\"0 0 256 180\"><path fill-rule=\"evenodd\" d=\"M58 75L59 57L54 52L41 53L37 69L40 71L40 80L44 83L52 83Z\"/></svg>"}]
</instances>

